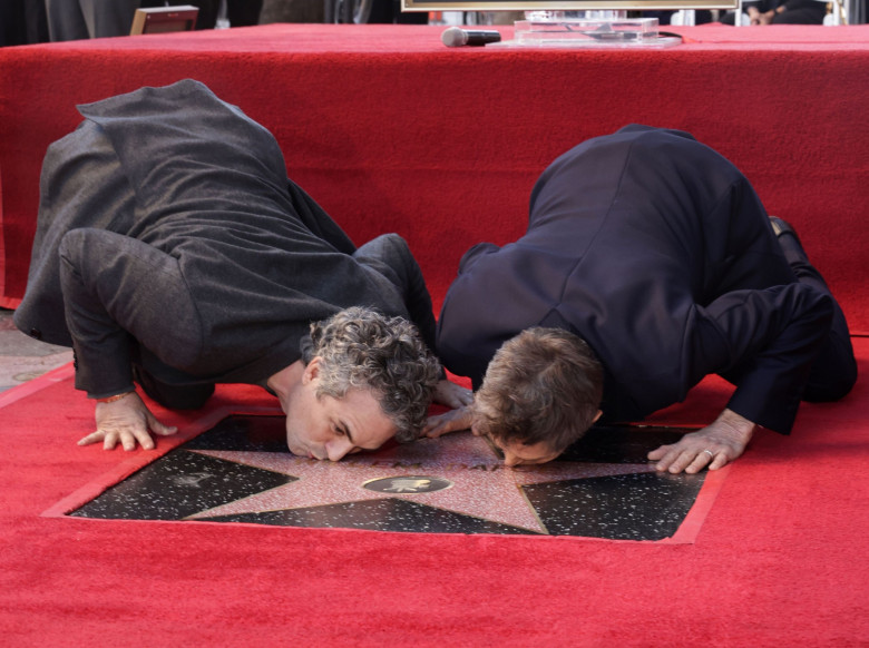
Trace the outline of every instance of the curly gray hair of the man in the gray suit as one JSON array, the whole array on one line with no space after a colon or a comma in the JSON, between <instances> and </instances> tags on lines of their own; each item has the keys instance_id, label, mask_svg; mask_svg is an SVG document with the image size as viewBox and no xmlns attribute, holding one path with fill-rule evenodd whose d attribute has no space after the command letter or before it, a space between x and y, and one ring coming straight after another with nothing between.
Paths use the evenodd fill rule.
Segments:
<instances>
[{"instance_id":1,"label":"curly gray hair of the man in the gray suit","mask_svg":"<svg viewBox=\"0 0 869 648\"><path fill-rule=\"evenodd\" d=\"M413 324L353 306L311 324L311 346L304 351L305 363L321 359L318 396L372 390L398 429L396 440L419 436L441 369Z\"/></svg>"}]
</instances>

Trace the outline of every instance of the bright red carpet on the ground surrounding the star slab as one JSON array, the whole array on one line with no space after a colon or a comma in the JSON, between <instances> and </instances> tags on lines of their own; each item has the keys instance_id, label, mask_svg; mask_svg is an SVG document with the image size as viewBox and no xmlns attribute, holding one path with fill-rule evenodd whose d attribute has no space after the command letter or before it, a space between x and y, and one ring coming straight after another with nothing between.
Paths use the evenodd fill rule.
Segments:
<instances>
[{"instance_id":1,"label":"bright red carpet on the ground surrounding the star slab","mask_svg":"<svg viewBox=\"0 0 869 648\"><path fill-rule=\"evenodd\" d=\"M869 342L856 340L869 371ZM76 448L69 367L0 396L8 646L865 646L869 389L731 468L693 544L41 517L130 456ZM866 374L863 374L866 375ZM655 421L709 419L702 384ZM253 390L213 409L272 406ZM167 415L184 424L184 416Z\"/></svg>"}]
</instances>

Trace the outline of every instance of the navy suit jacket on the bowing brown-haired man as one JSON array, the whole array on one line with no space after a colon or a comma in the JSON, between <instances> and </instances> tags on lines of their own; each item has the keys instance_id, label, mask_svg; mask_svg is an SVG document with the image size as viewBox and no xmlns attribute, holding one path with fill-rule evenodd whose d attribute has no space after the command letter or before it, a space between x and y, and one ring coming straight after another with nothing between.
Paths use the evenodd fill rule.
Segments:
<instances>
[{"instance_id":1,"label":"navy suit jacket on the bowing brown-haired man","mask_svg":"<svg viewBox=\"0 0 869 648\"><path fill-rule=\"evenodd\" d=\"M445 365L478 386L531 326L569 330L605 367L604 414L636 420L705 375L729 406L790 431L832 297L791 271L746 178L691 135L629 126L556 159L528 230L461 259L438 324Z\"/></svg>"}]
</instances>

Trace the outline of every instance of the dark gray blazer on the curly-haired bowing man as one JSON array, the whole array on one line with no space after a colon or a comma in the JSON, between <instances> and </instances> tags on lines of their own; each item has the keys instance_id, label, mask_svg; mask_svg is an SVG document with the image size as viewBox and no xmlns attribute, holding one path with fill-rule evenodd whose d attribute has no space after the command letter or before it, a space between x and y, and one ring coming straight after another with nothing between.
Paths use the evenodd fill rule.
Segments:
<instances>
[{"instance_id":1,"label":"dark gray blazer on the curly-haired bowing man","mask_svg":"<svg viewBox=\"0 0 869 648\"><path fill-rule=\"evenodd\" d=\"M263 385L311 322L352 305L434 317L404 240L357 248L286 177L274 137L204 85L79 106L49 148L19 328L76 351L78 389Z\"/></svg>"}]
</instances>

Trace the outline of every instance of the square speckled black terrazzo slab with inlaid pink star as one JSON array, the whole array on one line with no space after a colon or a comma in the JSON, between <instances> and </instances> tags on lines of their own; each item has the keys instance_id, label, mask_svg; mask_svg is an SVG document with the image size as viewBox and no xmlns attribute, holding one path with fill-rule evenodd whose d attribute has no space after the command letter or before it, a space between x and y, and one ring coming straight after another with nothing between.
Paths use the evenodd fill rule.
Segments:
<instances>
[{"instance_id":1,"label":"square speckled black terrazzo slab with inlaid pink star","mask_svg":"<svg viewBox=\"0 0 869 648\"><path fill-rule=\"evenodd\" d=\"M286 452L280 416L230 416L70 514L660 540L704 474L657 474L644 458L682 432L602 428L559 461L519 469L469 433L332 463Z\"/></svg>"}]
</instances>

